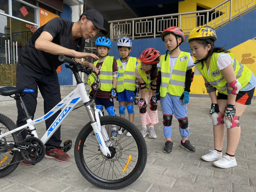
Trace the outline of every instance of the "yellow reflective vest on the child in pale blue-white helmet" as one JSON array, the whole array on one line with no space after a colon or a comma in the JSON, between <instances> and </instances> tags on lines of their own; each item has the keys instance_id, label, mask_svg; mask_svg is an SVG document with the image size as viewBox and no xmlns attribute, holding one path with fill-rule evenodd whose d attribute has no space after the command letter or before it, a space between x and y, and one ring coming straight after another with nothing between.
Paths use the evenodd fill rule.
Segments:
<instances>
[{"instance_id":1,"label":"yellow reflective vest on the child in pale blue-white helmet","mask_svg":"<svg viewBox=\"0 0 256 192\"><path fill-rule=\"evenodd\" d=\"M122 92L124 89L134 91L135 90L135 79L134 71L136 67L137 59L136 57L130 57L125 70L123 69L121 60L116 60L117 62L117 69L118 69L118 79L116 84L117 92Z\"/></svg>"}]
</instances>

